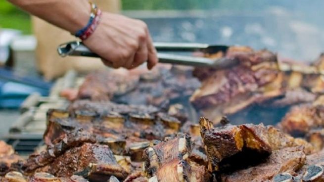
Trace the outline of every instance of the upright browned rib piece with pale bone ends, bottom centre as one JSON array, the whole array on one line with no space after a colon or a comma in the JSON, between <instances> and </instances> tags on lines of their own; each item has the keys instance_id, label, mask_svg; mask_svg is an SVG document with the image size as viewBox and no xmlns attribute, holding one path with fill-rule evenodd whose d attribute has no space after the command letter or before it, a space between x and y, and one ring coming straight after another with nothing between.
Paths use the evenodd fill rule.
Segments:
<instances>
[{"instance_id":1,"label":"upright browned rib piece with pale bone ends, bottom centre","mask_svg":"<svg viewBox=\"0 0 324 182\"><path fill-rule=\"evenodd\" d=\"M188 136L167 139L144 151L145 173L151 182L204 182L209 173L202 164L188 157L191 143Z\"/></svg>"}]
</instances>

